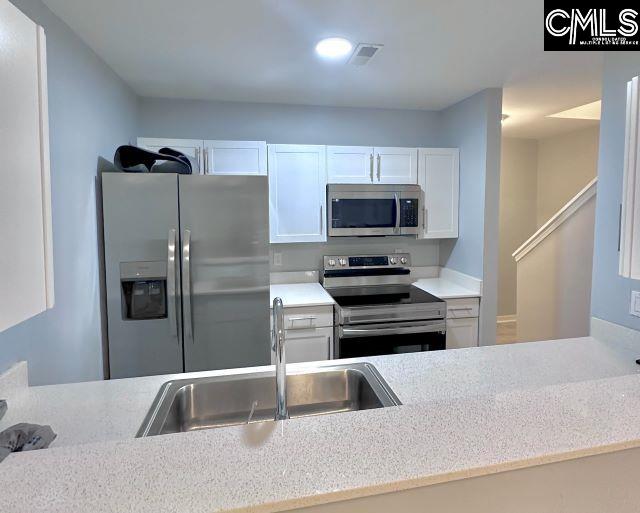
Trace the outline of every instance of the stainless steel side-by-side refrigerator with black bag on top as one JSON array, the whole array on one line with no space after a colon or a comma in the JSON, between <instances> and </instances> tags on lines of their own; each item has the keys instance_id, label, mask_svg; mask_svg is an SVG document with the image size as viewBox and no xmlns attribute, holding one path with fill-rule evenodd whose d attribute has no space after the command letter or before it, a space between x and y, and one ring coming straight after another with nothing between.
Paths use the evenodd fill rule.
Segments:
<instances>
[{"instance_id":1,"label":"stainless steel side-by-side refrigerator with black bag on top","mask_svg":"<svg viewBox=\"0 0 640 513\"><path fill-rule=\"evenodd\" d=\"M112 378L266 365L263 176L102 174Z\"/></svg>"}]
</instances>

